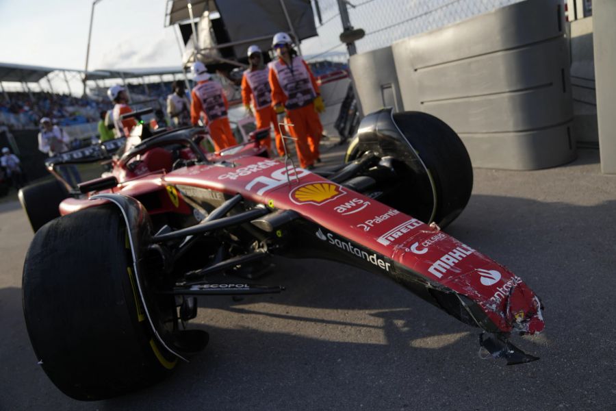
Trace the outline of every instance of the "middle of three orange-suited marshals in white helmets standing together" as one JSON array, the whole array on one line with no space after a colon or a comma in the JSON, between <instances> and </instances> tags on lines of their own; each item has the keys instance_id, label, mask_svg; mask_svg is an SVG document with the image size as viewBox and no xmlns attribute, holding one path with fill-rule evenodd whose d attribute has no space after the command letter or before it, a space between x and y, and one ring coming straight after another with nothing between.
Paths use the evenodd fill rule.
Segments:
<instances>
[{"instance_id":1,"label":"middle of three orange-suited marshals in white helmets standing together","mask_svg":"<svg viewBox=\"0 0 616 411\"><path fill-rule=\"evenodd\" d=\"M242 76L242 103L246 112L253 113L251 102L255 108L255 120L257 129L270 128L274 125L274 136L276 136L276 150L279 155L285 155L283 140L278 127L278 119L274 108L272 108L272 89L268 80L268 69L263 64L263 55L259 46L248 47L248 60L250 66L244 71ZM271 138L261 140L261 145L270 149Z\"/></svg>"}]
</instances>

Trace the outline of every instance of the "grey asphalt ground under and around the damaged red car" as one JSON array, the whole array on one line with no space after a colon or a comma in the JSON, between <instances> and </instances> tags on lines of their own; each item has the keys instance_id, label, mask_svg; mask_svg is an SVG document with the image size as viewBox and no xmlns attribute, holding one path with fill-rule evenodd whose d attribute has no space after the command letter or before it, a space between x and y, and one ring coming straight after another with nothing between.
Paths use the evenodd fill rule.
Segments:
<instances>
[{"instance_id":1,"label":"grey asphalt ground under and around the damaged red car","mask_svg":"<svg viewBox=\"0 0 616 411\"><path fill-rule=\"evenodd\" d=\"M339 158L339 149L324 155ZM37 365L21 310L32 234L0 204L0 410L616 410L616 176L598 151L543 171L475 169L447 232L543 299L546 331L514 342L541 360L478 357L478 329L393 282L335 262L278 258L280 295L201 299L207 349L125 397L64 396Z\"/></svg>"}]
</instances>

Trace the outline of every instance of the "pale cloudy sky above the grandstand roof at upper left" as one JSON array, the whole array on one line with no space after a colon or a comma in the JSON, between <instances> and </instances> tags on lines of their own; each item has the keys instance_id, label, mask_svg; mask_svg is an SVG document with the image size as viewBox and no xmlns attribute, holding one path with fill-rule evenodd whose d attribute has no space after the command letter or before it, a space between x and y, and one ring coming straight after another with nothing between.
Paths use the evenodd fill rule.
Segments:
<instances>
[{"instance_id":1,"label":"pale cloudy sky above the grandstand roof at upper left","mask_svg":"<svg viewBox=\"0 0 616 411\"><path fill-rule=\"evenodd\" d=\"M89 69L179 66L166 0L101 0L94 8ZM0 0L0 62L83 70L89 0Z\"/></svg>"}]
</instances>

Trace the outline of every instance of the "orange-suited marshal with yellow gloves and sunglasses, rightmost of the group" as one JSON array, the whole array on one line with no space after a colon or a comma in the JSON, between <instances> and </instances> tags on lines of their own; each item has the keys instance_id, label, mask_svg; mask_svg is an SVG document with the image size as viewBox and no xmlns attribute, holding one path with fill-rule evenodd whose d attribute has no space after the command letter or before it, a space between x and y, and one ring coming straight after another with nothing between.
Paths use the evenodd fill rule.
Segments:
<instances>
[{"instance_id":1,"label":"orange-suited marshal with yellow gloves and sunglasses, rightmost of the group","mask_svg":"<svg viewBox=\"0 0 616 411\"><path fill-rule=\"evenodd\" d=\"M319 142L322 125L318 113L325 109L319 94L319 86L308 64L292 48L291 36L278 33L272 47L277 59L270 63L270 87L272 105L277 113L286 112L289 132L296 138L300 165L313 169L320 161Z\"/></svg>"}]
</instances>

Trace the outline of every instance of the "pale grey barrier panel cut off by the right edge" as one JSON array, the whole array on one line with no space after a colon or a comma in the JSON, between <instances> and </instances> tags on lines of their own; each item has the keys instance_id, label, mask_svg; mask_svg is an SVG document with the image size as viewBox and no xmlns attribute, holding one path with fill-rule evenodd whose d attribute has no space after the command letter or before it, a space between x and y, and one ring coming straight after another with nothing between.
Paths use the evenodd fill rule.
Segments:
<instances>
[{"instance_id":1,"label":"pale grey barrier panel cut off by the right edge","mask_svg":"<svg viewBox=\"0 0 616 411\"><path fill-rule=\"evenodd\" d=\"M616 174L616 1L593 3L595 82L601 171Z\"/></svg>"}]
</instances>

